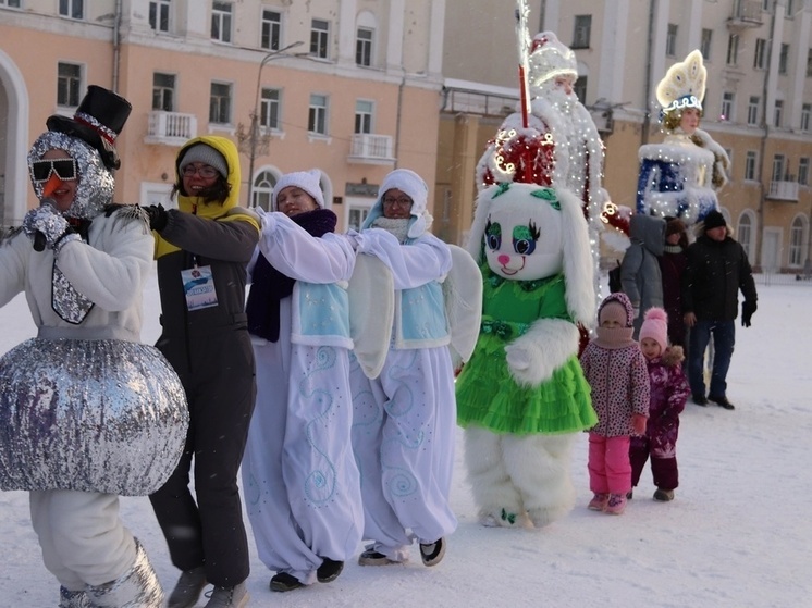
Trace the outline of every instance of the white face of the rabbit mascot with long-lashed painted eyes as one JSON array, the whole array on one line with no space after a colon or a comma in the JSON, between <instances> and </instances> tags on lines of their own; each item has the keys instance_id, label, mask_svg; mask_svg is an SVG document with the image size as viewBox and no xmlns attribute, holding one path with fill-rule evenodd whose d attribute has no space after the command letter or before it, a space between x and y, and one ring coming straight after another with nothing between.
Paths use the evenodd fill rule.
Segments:
<instances>
[{"instance_id":1,"label":"white face of the rabbit mascot with long-lashed painted eyes","mask_svg":"<svg viewBox=\"0 0 812 608\"><path fill-rule=\"evenodd\" d=\"M528 196L508 189L496 196L483 238L488 265L504 278L534 281L562 272L562 212L554 190Z\"/></svg>"}]
</instances>

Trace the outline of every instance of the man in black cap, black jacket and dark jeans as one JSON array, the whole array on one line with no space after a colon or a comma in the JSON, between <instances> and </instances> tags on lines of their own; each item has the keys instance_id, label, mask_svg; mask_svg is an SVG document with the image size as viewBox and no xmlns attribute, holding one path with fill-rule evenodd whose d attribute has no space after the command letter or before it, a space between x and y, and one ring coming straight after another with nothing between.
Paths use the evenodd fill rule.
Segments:
<instances>
[{"instance_id":1,"label":"man in black cap, black jacket and dark jeans","mask_svg":"<svg viewBox=\"0 0 812 608\"><path fill-rule=\"evenodd\" d=\"M690 327L688 380L694 404L706 406L710 400L731 410L726 377L736 342L738 293L741 290L745 296L741 305L745 327L750 326L758 295L745 248L729 236L724 215L709 212L702 231L702 236L688 247L682 275L682 312ZM702 359L712 335L713 372L705 397Z\"/></svg>"}]
</instances>

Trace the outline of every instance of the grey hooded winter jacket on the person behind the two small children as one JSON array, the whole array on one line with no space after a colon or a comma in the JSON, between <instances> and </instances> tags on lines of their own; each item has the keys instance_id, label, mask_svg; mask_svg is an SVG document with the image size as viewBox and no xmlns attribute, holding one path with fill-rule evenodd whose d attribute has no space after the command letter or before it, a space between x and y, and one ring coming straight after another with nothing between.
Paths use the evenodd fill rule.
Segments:
<instances>
[{"instance_id":1,"label":"grey hooded winter jacket on the person behind the two small children","mask_svg":"<svg viewBox=\"0 0 812 608\"><path fill-rule=\"evenodd\" d=\"M631 245L620 263L620 283L624 294L638 311L636 337L644 312L653 306L663 306L663 281L657 258L663 255L665 246L665 226L663 218L652 215L637 214L629 220Z\"/></svg>"}]
</instances>

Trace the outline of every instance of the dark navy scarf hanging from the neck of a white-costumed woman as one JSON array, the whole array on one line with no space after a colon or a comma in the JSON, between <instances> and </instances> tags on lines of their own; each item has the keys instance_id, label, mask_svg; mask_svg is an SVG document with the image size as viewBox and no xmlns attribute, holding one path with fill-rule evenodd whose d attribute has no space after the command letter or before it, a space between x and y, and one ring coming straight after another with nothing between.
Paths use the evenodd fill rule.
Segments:
<instances>
[{"instance_id":1,"label":"dark navy scarf hanging from the neck of a white-costumed woman","mask_svg":"<svg viewBox=\"0 0 812 608\"><path fill-rule=\"evenodd\" d=\"M306 211L291 218L315 237L321 238L327 233L335 232L339 219L329 209ZM251 273L251 289L245 312L248 315L248 332L270 342L279 340L279 310L282 298L293 293L295 278L279 272L260 252Z\"/></svg>"}]
</instances>

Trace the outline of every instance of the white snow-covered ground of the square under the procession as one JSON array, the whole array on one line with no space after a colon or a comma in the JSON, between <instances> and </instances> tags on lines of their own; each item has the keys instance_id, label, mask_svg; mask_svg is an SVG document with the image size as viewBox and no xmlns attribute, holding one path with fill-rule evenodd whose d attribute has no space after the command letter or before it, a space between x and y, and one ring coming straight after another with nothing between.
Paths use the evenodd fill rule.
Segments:
<instances>
[{"instance_id":1,"label":"white snow-covered ground of the square under the procession","mask_svg":"<svg viewBox=\"0 0 812 608\"><path fill-rule=\"evenodd\" d=\"M158 335L155 280L145 300L145 342ZM735 411L690 401L682 414L680 487L651 499L643 474L626 513L588 511L587 442L573 474L578 505L541 531L482 528L458 450L452 502L459 528L442 563L425 568L347 563L333 583L271 593L253 554L250 606L444 607L800 607L812 595L812 285L759 285L753 325L738 328L728 377ZM34 334L23 296L0 309L0 352ZM458 435L462 446L462 434ZM122 499L165 587L177 572L146 498ZM0 493L0 608L57 605L40 560L27 494ZM253 547L251 547L253 548ZM360 547L359 547L360 553ZM198 606L202 606L200 601Z\"/></svg>"}]
</instances>

